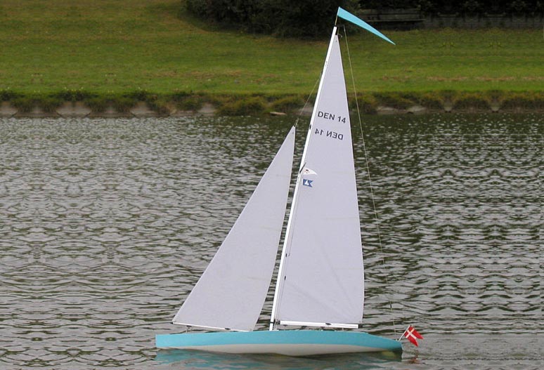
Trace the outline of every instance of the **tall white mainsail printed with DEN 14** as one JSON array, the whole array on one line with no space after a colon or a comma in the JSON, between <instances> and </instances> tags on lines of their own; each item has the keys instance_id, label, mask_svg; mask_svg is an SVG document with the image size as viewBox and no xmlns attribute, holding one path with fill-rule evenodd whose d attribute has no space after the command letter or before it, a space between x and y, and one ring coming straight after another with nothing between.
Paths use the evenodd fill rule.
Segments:
<instances>
[{"instance_id":1,"label":"tall white mainsail printed with DEN 14","mask_svg":"<svg viewBox=\"0 0 544 370\"><path fill-rule=\"evenodd\" d=\"M272 322L357 327L361 226L344 70L332 32L287 223Z\"/></svg>"}]
</instances>

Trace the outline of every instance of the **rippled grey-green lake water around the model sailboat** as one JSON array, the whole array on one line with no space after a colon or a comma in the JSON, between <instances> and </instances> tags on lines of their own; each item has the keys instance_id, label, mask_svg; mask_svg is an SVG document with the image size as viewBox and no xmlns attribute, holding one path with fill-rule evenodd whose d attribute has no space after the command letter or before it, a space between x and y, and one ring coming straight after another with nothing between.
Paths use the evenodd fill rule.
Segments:
<instances>
[{"instance_id":1,"label":"rippled grey-green lake water around the model sailboat","mask_svg":"<svg viewBox=\"0 0 544 370\"><path fill-rule=\"evenodd\" d=\"M414 324L419 348L309 359L155 350L155 333L179 331L171 318L293 121L0 120L0 368L538 369L536 114L365 117L382 253L354 128L365 329L396 338Z\"/></svg>"}]
</instances>

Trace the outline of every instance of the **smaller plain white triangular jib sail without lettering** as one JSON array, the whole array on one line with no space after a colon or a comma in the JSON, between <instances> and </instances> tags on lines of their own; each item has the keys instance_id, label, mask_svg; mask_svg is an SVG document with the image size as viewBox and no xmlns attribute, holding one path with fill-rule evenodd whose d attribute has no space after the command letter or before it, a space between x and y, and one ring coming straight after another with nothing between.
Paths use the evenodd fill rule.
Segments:
<instances>
[{"instance_id":1,"label":"smaller plain white triangular jib sail without lettering","mask_svg":"<svg viewBox=\"0 0 544 370\"><path fill-rule=\"evenodd\" d=\"M294 127L174 324L251 331L261 312L283 228L294 151Z\"/></svg>"}]
</instances>

